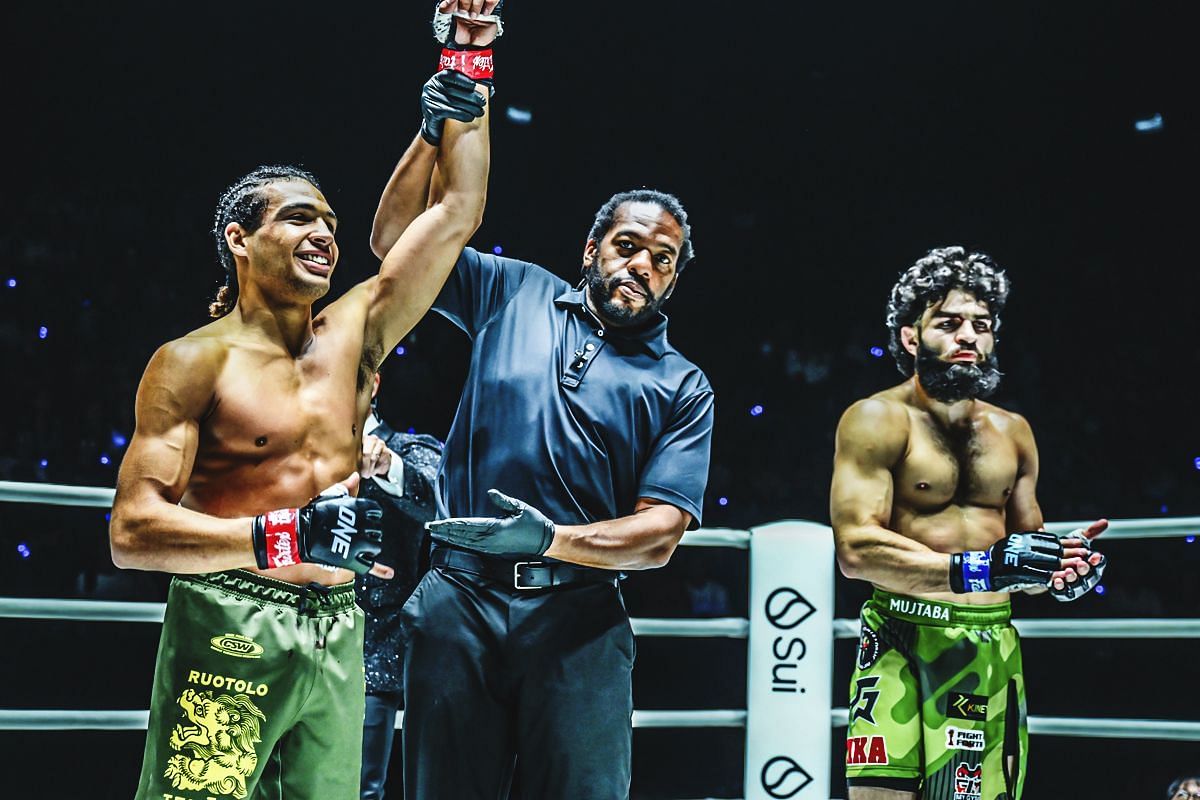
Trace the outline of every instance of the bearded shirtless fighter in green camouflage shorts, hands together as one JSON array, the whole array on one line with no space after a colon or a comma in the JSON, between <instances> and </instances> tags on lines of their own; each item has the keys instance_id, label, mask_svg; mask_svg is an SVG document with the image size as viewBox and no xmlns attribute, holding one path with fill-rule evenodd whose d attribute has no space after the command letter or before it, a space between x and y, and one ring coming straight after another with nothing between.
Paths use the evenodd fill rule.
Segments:
<instances>
[{"instance_id":1,"label":"bearded shirtless fighter in green camouflage shorts, hands together","mask_svg":"<svg viewBox=\"0 0 1200 800\"><path fill-rule=\"evenodd\" d=\"M838 426L838 561L875 585L850 688L850 800L1018 800L1028 736L1006 593L1074 600L1104 569L1090 542L1105 521L1040 531L1033 432L983 399L1007 296L983 253L930 251L888 306L908 380Z\"/></svg>"}]
</instances>

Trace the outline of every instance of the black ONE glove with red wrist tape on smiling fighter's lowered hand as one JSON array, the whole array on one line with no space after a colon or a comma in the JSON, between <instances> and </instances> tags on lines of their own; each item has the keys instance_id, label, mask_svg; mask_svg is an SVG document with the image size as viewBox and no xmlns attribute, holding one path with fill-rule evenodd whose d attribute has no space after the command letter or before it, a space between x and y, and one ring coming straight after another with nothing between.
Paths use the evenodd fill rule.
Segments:
<instances>
[{"instance_id":1,"label":"black ONE glove with red wrist tape on smiling fighter's lowered hand","mask_svg":"<svg viewBox=\"0 0 1200 800\"><path fill-rule=\"evenodd\" d=\"M370 572L383 543L383 509L349 494L318 494L302 509L254 517L254 561L260 570L326 564Z\"/></svg>"}]
</instances>

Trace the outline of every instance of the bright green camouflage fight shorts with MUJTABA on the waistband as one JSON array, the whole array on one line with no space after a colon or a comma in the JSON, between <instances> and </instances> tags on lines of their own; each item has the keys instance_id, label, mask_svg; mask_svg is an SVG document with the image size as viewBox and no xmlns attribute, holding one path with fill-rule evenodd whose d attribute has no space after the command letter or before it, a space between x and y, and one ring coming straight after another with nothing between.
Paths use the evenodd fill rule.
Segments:
<instances>
[{"instance_id":1,"label":"bright green camouflage fight shorts with MUJTABA on the waistband","mask_svg":"<svg viewBox=\"0 0 1200 800\"><path fill-rule=\"evenodd\" d=\"M919 792L924 800L1019 800L1028 732L1009 616L1008 603L875 590L863 606L850 682L850 786Z\"/></svg>"}]
</instances>

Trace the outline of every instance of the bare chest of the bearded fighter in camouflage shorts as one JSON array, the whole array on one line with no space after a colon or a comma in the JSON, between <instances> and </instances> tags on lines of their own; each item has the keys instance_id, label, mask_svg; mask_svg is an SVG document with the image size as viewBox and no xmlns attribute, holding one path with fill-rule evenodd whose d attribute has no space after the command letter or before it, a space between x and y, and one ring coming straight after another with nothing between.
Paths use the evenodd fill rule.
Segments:
<instances>
[{"instance_id":1,"label":"bare chest of the bearded fighter in camouflage shorts","mask_svg":"<svg viewBox=\"0 0 1200 800\"><path fill-rule=\"evenodd\" d=\"M947 431L920 420L895 470L895 494L917 510L950 504L1002 510L1019 469L1013 440L986 422Z\"/></svg>"}]
</instances>

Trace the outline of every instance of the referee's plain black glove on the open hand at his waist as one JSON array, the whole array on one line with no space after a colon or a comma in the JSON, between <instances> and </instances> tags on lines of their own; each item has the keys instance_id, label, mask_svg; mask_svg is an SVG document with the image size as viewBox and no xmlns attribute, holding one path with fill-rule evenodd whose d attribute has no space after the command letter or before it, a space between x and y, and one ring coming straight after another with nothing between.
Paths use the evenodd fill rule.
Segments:
<instances>
[{"instance_id":1,"label":"referee's plain black glove on the open hand at his waist","mask_svg":"<svg viewBox=\"0 0 1200 800\"><path fill-rule=\"evenodd\" d=\"M434 541L494 555L541 555L554 540L554 523L530 505L488 489L492 505L504 517L452 517L425 523Z\"/></svg>"}]
</instances>

